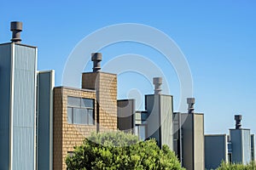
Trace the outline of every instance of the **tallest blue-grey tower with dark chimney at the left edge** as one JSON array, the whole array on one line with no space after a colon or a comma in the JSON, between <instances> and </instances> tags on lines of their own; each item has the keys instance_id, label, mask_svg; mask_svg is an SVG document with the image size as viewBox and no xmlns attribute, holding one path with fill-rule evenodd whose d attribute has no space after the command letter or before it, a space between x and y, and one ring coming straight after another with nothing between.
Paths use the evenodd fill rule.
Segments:
<instances>
[{"instance_id":1,"label":"tallest blue-grey tower with dark chimney at the left edge","mask_svg":"<svg viewBox=\"0 0 256 170\"><path fill-rule=\"evenodd\" d=\"M36 167L38 48L21 44L20 22L12 42L0 44L0 169Z\"/></svg>"}]
</instances>

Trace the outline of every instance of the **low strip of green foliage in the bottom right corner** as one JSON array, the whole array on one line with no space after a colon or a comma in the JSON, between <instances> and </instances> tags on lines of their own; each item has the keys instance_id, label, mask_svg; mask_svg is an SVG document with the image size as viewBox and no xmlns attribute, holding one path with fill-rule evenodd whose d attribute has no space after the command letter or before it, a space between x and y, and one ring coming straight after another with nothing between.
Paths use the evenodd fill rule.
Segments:
<instances>
[{"instance_id":1,"label":"low strip of green foliage in the bottom right corner","mask_svg":"<svg viewBox=\"0 0 256 170\"><path fill-rule=\"evenodd\" d=\"M253 161L247 165L225 163L223 161L217 170L256 170L256 164Z\"/></svg>"}]
</instances>

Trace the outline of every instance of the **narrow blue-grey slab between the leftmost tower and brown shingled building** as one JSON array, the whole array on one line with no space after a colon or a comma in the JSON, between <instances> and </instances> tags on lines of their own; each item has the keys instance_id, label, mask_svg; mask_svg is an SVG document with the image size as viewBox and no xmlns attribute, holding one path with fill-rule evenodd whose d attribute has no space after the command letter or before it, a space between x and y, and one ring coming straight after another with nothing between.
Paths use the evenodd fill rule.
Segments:
<instances>
[{"instance_id":1,"label":"narrow blue-grey slab between the leftmost tower and brown shingled building","mask_svg":"<svg viewBox=\"0 0 256 170\"><path fill-rule=\"evenodd\" d=\"M52 167L54 71L38 72L38 170Z\"/></svg>"}]
</instances>

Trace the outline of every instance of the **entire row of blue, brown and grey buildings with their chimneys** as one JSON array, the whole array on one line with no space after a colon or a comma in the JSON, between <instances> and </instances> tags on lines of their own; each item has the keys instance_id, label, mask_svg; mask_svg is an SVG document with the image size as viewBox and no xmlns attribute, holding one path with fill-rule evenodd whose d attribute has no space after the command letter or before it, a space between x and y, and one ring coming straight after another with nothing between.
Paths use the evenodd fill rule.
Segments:
<instances>
[{"instance_id":1,"label":"entire row of blue, brown and grey buildings with their chimneys","mask_svg":"<svg viewBox=\"0 0 256 170\"><path fill-rule=\"evenodd\" d=\"M188 170L255 160L255 137L241 116L229 135L204 136L195 99L187 99L187 113L174 113L161 77L145 95L145 111L136 111L135 99L117 99L117 75L101 71L100 53L91 54L81 88L55 87L54 71L37 71L38 48L20 43L22 23L12 22L11 31L12 42L0 44L0 170L67 169L67 156L90 133L116 130L168 145Z\"/></svg>"}]
</instances>

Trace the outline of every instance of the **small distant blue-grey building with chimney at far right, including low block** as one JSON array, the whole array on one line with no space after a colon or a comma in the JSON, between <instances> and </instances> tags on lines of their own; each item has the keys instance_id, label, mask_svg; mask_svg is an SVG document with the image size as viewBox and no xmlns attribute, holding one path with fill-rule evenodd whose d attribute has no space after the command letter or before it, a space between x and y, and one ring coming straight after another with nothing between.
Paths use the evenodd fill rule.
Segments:
<instances>
[{"instance_id":1,"label":"small distant blue-grey building with chimney at far right, including low block","mask_svg":"<svg viewBox=\"0 0 256 170\"><path fill-rule=\"evenodd\" d=\"M221 161L247 164L255 161L254 135L241 128L241 115L235 116L236 128L230 134L205 135L206 168L217 168Z\"/></svg>"}]
</instances>

